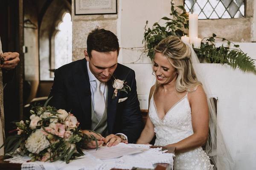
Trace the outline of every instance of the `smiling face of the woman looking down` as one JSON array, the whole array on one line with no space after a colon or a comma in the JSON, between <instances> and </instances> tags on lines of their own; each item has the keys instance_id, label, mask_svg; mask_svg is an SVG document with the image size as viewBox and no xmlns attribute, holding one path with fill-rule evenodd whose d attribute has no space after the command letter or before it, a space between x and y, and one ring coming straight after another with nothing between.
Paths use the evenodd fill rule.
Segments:
<instances>
[{"instance_id":1,"label":"smiling face of the woman looking down","mask_svg":"<svg viewBox=\"0 0 256 170\"><path fill-rule=\"evenodd\" d=\"M155 54L153 70L159 84L168 84L174 81L177 75L176 69L161 53Z\"/></svg>"}]
</instances>

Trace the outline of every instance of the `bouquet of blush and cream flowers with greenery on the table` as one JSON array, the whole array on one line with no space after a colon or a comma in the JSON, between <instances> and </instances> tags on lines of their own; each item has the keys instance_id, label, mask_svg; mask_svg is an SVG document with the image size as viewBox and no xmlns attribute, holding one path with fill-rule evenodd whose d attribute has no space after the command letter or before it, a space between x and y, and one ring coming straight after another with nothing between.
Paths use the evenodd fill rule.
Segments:
<instances>
[{"instance_id":1,"label":"bouquet of blush and cream flowers with greenery on the table","mask_svg":"<svg viewBox=\"0 0 256 170\"><path fill-rule=\"evenodd\" d=\"M96 140L94 136L82 133L73 114L47 106L47 102L43 107L32 107L30 120L15 123L17 135L6 139L3 144L5 155L17 151L29 156L31 161L62 160L69 163L84 155L81 148L86 143Z\"/></svg>"}]
</instances>

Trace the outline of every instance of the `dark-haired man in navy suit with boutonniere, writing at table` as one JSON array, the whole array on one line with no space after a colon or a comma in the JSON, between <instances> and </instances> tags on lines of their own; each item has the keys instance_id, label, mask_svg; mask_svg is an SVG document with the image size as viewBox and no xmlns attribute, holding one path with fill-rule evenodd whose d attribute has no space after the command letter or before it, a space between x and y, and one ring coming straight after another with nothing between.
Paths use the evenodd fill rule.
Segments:
<instances>
[{"instance_id":1,"label":"dark-haired man in navy suit with boutonniere, writing at table","mask_svg":"<svg viewBox=\"0 0 256 170\"><path fill-rule=\"evenodd\" d=\"M50 105L73 113L84 133L93 134L99 145L109 147L136 142L143 128L135 73L117 63L118 54L116 35L95 29L87 37L85 59L56 69L49 94L53 96ZM124 86L115 79L123 80ZM96 142L87 147L95 148Z\"/></svg>"}]
</instances>

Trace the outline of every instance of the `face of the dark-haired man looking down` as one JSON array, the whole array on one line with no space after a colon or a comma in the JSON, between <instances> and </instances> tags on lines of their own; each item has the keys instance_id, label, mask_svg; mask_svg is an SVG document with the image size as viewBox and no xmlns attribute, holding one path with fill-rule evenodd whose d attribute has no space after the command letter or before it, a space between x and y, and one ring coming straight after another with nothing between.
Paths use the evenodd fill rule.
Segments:
<instances>
[{"instance_id":1,"label":"face of the dark-haired man looking down","mask_svg":"<svg viewBox=\"0 0 256 170\"><path fill-rule=\"evenodd\" d=\"M100 82L108 82L117 67L117 51L99 52L92 50L91 57L84 50L85 59L89 62L90 71Z\"/></svg>"}]
</instances>

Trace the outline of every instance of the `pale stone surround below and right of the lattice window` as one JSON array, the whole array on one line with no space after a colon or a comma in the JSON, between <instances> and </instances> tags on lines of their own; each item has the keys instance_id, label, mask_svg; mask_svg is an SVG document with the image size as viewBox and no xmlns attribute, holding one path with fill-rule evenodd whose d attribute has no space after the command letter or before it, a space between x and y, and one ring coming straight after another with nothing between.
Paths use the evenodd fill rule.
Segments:
<instances>
[{"instance_id":1,"label":"pale stone surround below and right of the lattice window","mask_svg":"<svg viewBox=\"0 0 256 170\"><path fill-rule=\"evenodd\" d=\"M256 41L256 3L246 0L246 17L232 19L212 19L198 21L198 37L208 37L212 33L235 42Z\"/></svg>"}]
</instances>

